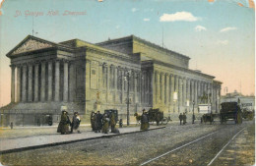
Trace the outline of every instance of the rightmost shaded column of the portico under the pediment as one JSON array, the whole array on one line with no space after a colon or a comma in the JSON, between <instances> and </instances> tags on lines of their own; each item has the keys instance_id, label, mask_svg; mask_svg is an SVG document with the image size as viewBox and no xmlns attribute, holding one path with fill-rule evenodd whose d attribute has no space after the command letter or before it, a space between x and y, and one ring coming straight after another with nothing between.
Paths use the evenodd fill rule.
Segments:
<instances>
[{"instance_id":1,"label":"rightmost shaded column of the portico under the pediment","mask_svg":"<svg viewBox=\"0 0 256 166\"><path fill-rule=\"evenodd\" d=\"M69 100L75 101L76 97L76 70L75 64L70 63L69 67Z\"/></svg>"}]
</instances>

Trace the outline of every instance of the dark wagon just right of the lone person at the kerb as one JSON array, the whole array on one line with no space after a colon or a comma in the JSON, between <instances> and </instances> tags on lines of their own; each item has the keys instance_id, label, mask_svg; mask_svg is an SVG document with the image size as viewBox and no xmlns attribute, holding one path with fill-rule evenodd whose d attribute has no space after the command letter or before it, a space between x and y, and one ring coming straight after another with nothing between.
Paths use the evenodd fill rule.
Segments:
<instances>
[{"instance_id":1,"label":"dark wagon just right of the lone person at the kerb","mask_svg":"<svg viewBox=\"0 0 256 166\"><path fill-rule=\"evenodd\" d=\"M166 125L168 123L168 119L163 116L163 112L160 111L159 108L149 110L149 119L151 123L157 122L157 125L163 124Z\"/></svg>"}]
</instances>

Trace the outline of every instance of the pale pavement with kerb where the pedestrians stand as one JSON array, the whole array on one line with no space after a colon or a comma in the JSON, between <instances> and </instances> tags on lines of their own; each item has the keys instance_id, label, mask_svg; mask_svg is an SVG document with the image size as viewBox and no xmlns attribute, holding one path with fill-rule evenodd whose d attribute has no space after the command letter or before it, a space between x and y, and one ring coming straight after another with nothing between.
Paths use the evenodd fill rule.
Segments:
<instances>
[{"instance_id":1,"label":"pale pavement with kerb where the pedestrians stand","mask_svg":"<svg viewBox=\"0 0 256 166\"><path fill-rule=\"evenodd\" d=\"M83 125L88 126L88 125ZM49 128L49 127L44 127ZM56 130L57 127L50 127L51 129ZM151 126L150 130L158 130L165 128L164 126ZM10 129L10 128L9 128ZM33 130L41 130L42 127L19 127L19 131L22 131L23 129L33 129ZM5 132L5 130L3 130ZM13 131L13 130L10 130ZM83 131L83 130L82 130ZM0 131L1 132L1 131ZM4 136L4 132L1 132ZM114 136L120 136L120 135L127 135L127 134L133 134L133 133L139 133L143 132L140 131L140 126L135 127L125 127L125 128L119 128L120 134L102 134L102 133L94 133L90 131L90 128L86 132L82 132L82 134L71 134L71 135L60 135L58 133L55 134L43 134L39 136L27 136L27 137L11 137L11 138L0 138L0 154L10 153L10 152L17 152L17 151L23 151L23 150L29 150L29 149L35 149L40 147L46 147L46 146L54 146L54 145L60 145L60 144L66 144L66 143L72 143L77 141L84 141L84 140L90 140L90 139L96 139L96 138L110 138Z\"/></svg>"}]
</instances>

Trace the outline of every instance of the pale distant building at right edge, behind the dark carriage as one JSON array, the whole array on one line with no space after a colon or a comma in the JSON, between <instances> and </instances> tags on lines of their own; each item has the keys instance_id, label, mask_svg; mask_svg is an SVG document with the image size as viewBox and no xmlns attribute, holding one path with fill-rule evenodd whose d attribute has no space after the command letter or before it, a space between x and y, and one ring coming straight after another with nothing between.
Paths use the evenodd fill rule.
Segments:
<instances>
[{"instance_id":1,"label":"pale distant building at right edge, behind the dark carriage","mask_svg":"<svg viewBox=\"0 0 256 166\"><path fill-rule=\"evenodd\" d=\"M246 108L250 111L255 108L255 96L242 95L234 90L222 96L221 102L240 102L242 109Z\"/></svg>"}]
</instances>

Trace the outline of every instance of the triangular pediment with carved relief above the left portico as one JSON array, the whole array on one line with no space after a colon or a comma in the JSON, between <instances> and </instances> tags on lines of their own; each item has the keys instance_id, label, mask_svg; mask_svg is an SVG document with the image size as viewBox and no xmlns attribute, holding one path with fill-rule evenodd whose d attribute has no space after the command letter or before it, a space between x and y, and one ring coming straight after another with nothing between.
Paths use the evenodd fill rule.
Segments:
<instances>
[{"instance_id":1,"label":"triangular pediment with carved relief above the left portico","mask_svg":"<svg viewBox=\"0 0 256 166\"><path fill-rule=\"evenodd\" d=\"M19 43L13 50L11 50L7 54L7 56L20 54L24 52L30 52L43 48L50 48L54 46L56 46L55 43L29 35L21 43Z\"/></svg>"}]
</instances>

